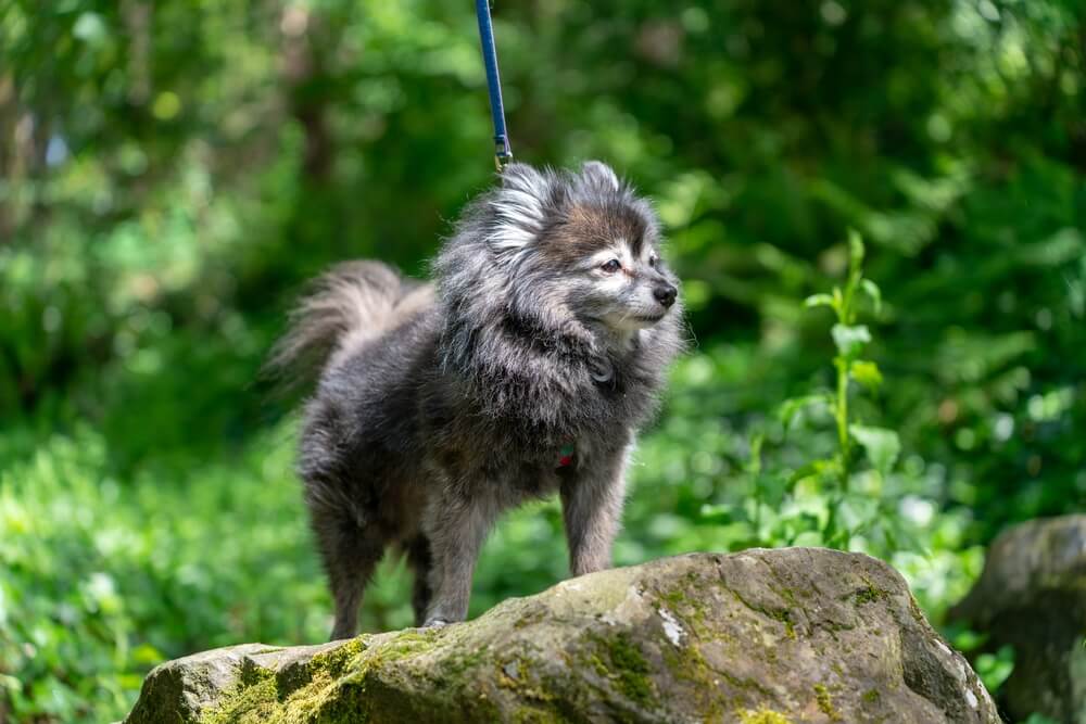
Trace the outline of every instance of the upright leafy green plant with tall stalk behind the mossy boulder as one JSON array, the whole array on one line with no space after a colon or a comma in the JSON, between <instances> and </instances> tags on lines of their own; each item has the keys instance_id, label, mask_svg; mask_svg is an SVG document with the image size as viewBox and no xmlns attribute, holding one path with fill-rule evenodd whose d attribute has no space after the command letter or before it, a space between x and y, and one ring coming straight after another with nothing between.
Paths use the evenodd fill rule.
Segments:
<instances>
[{"instance_id":1,"label":"upright leafy green plant with tall stalk behind the mossy boulder","mask_svg":"<svg viewBox=\"0 0 1086 724\"><path fill-rule=\"evenodd\" d=\"M908 470L897 470L898 434L855 417L855 394L864 390L874 394L882 385L877 365L860 358L872 342L868 327L858 323L860 295L875 309L881 308L882 297L877 287L863 278L859 234L849 234L848 250L844 287L804 303L834 313L833 388L804 391L785 399L775 417L750 425L748 458L742 468L746 499L740 505L721 501L702 507L704 524L727 528L735 536L728 541L731 549L785 544L856 549L889 560L932 555L926 548L929 525L938 500L932 495L935 487L922 475L923 461L913 455ZM732 495L729 491L720 497ZM951 511L942 520L959 529L964 523ZM946 561L956 580L968 577L971 560L951 555ZM939 606L937 599L925 602Z\"/></svg>"}]
</instances>

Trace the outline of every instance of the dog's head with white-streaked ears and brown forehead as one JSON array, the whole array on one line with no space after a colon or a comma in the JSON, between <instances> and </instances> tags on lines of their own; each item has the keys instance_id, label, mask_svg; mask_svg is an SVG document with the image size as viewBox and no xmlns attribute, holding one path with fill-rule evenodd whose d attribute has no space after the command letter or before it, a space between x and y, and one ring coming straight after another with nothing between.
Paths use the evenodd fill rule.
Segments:
<instances>
[{"instance_id":1,"label":"dog's head with white-streaked ears and brown forehead","mask_svg":"<svg viewBox=\"0 0 1086 724\"><path fill-rule=\"evenodd\" d=\"M679 314L656 214L599 162L579 173L507 166L465 232L490 267L483 285L547 326L572 318L630 334Z\"/></svg>"}]
</instances>

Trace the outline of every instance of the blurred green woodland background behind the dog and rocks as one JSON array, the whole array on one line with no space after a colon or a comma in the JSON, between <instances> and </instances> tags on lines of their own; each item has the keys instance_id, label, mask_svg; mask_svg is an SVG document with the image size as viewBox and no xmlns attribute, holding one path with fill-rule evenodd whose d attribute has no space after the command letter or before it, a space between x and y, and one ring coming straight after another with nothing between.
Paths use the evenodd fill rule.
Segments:
<instances>
[{"instance_id":1,"label":"blurred green woodland background behind the dog and rocks","mask_svg":"<svg viewBox=\"0 0 1086 724\"><path fill-rule=\"evenodd\" d=\"M842 508L849 545L937 619L1002 526L1083 508L1086 7L494 14L518 158L613 163L685 280L697 344L620 562L826 543L835 498L801 473L830 411L778 410L834 384L803 300L846 274L849 227L885 297L856 406L902 450L862 473L876 507ZM326 635L261 359L328 264L425 274L493 180L490 132L470 3L0 1L0 720L116 719L163 658ZM502 525L473 611L564 575L559 520ZM402 577L370 628L409 620Z\"/></svg>"}]
</instances>

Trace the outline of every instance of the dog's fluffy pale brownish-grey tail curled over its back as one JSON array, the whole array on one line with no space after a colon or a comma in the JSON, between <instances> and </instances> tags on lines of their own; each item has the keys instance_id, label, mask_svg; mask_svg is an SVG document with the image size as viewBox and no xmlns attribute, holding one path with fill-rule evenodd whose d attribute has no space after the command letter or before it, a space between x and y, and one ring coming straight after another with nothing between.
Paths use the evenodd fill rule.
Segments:
<instances>
[{"instance_id":1,"label":"dog's fluffy pale brownish-grey tail curled over its back","mask_svg":"<svg viewBox=\"0 0 1086 724\"><path fill-rule=\"evenodd\" d=\"M379 262L345 262L318 277L291 312L265 373L292 389L428 306L432 288Z\"/></svg>"}]
</instances>

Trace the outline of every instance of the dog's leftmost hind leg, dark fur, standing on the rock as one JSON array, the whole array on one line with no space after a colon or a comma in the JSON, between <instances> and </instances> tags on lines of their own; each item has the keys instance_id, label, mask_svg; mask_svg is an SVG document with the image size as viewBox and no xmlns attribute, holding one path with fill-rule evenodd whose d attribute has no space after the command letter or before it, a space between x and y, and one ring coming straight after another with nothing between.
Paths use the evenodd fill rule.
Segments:
<instances>
[{"instance_id":1,"label":"dog's leftmost hind leg, dark fur, standing on the rock","mask_svg":"<svg viewBox=\"0 0 1086 724\"><path fill-rule=\"evenodd\" d=\"M362 594L384 555L386 541L348 510L313 510L312 520L336 605L331 640L351 638L358 633Z\"/></svg>"}]
</instances>

